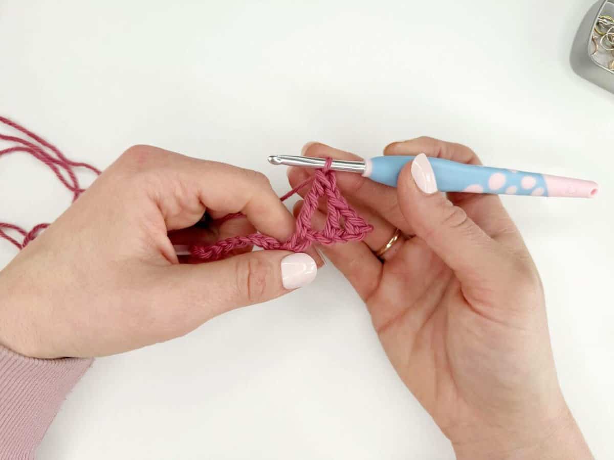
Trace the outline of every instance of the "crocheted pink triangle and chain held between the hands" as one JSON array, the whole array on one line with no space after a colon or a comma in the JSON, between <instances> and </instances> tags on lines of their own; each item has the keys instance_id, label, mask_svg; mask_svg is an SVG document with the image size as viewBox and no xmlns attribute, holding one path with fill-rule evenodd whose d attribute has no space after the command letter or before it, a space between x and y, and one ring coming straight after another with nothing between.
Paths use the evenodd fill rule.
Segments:
<instances>
[{"instance_id":1,"label":"crocheted pink triangle and chain held between the hands","mask_svg":"<svg viewBox=\"0 0 614 460\"><path fill-rule=\"evenodd\" d=\"M373 230L373 226L360 217L341 196L336 185L335 172L330 169L331 162L332 159L328 158L323 169L317 169L313 177L308 178L281 197L281 201L284 201L311 183L311 190L306 194L303 207L298 213L296 230L285 242L261 233L253 233L247 236L230 237L208 246L192 245L190 253L203 261L212 261L223 258L235 249L252 245L265 250L282 249L304 252L313 243L332 245L348 241L362 241ZM321 197L327 199L328 213L324 229L316 231L312 228L311 220ZM228 220L228 218L239 216L241 216L240 213L231 214L222 219Z\"/></svg>"}]
</instances>

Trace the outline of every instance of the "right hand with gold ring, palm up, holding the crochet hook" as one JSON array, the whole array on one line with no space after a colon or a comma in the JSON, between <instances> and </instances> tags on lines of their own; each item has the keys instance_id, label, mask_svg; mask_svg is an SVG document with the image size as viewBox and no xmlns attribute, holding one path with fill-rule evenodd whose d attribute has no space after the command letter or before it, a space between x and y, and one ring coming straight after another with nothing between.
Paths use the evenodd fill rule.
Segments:
<instances>
[{"instance_id":1,"label":"right hand with gold ring, palm up, holding the crochet hook","mask_svg":"<svg viewBox=\"0 0 614 460\"><path fill-rule=\"evenodd\" d=\"M480 164L469 148L427 137L384 155L422 152ZM304 154L360 159L322 144ZM367 303L392 365L458 458L592 458L559 388L540 278L499 197L421 190L432 169L424 155L413 163L396 190L338 174L375 229L325 255ZM291 185L308 174L293 168ZM324 213L315 218L321 225ZM406 237L378 259L395 228Z\"/></svg>"}]
</instances>

